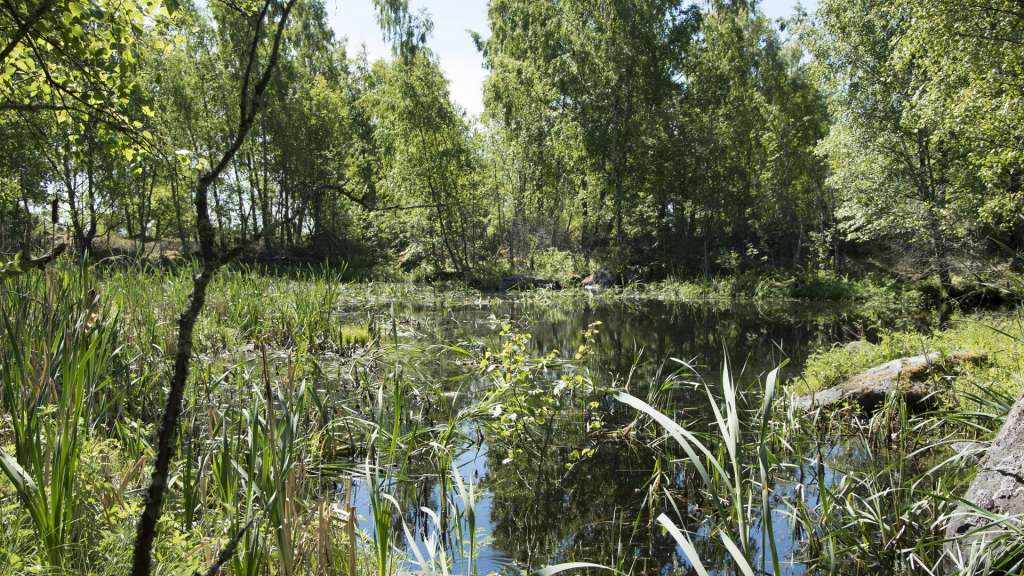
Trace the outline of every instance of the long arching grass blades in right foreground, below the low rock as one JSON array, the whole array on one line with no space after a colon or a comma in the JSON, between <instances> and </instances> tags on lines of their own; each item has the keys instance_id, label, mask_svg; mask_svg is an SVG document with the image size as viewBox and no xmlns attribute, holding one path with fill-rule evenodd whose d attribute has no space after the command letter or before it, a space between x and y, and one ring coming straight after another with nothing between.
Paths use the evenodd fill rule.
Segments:
<instances>
[{"instance_id":1,"label":"long arching grass blades in right foreground, below the low rock","mask_svg":"<svg viewBox=\"0 0 1024 576\"><path fill-rule=\"evenodd\" d=\"M1020 566L1024 532L1017 519L975 509L997 536L974 539L963 559L949 557L943 534L975 464L971 451L950 446L994 435L1012 399L983 388L970 395L970 410L946 405L915 415L891 397L867 419L838 412L816 421L773 402L777 374L752 394L759 407L748 409L727 368L717 388L691 383L707 398L711 434L702 431L703 418L684 425L670 417L664 394L649 399L662 409L627 392L615 396L674 441L657 444L659 453L670 460L679 453L700 483L708 507L693 528L681 528L694 519L675 506L656 518L694 572L720 569L720 553L744 576L784 574L793 562L822 574L1009 574L1008 567ZM809 482L801 471L807 468ZM802 545L780 547L780 513Z\"/></svg>"}]
</instances>

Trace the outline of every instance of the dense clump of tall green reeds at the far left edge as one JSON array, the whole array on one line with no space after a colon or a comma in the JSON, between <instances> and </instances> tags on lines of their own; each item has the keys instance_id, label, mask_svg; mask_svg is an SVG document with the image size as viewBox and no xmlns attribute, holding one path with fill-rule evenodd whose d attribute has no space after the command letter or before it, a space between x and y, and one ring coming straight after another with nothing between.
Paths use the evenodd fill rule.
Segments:
<instances>
[{"instance_id":1,"label":"dense clump of tall green reeds at the far left edge","mask_svg":"<svg viewBox=\"0 0 1024 576\"><path fill-rule=\"evenodd\" d=\"M78 540L83 444L116 395L106 389L116 318L84 273L22 275L3 290L0 405L14 453L0 450L0 469L29 511L40 556L61 569Z\"/></svg>"}]
</instances>

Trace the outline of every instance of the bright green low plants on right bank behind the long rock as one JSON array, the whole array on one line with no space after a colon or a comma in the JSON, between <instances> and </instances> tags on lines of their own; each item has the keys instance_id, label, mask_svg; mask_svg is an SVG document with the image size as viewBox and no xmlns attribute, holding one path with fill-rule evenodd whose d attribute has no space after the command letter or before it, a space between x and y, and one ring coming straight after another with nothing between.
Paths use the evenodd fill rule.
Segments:
<instances>
[{"instance_id":1,"label":"bright green low plants on right bank behind the long rock","mask_svg":"<svg viewBox=\"0 0 1024 576\"><path fill-rule=\"evenodd\" d=\"M1024 324L1020 312L959 316L945 329L928 332L883 331L874 342L834 344L808 358L803 375L792 387L807 394L885 362L938 352L984 355L984 361L959 363L947 378L956 392L994 389L1015 395L1024 389Z\"/></svg>"}]
</instances>

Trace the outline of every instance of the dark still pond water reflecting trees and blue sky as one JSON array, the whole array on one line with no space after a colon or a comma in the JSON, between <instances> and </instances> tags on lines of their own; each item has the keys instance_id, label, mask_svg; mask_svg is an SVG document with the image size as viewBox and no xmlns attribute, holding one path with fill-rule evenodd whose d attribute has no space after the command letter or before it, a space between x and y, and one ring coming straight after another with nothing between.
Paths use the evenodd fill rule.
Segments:
<instances>
[{"instance_id":1,"label":"dark still pond water reflecting trees and blue sky","mask_svg":"<svg viewBox=\"0 0 1024 576\"><path fill-rule=\"evenodd\" d=\"M425 344L455 342L494 349L499 345L500 326L509 324L530 335L528 342L534 353L558 351L557 355L565 359L571 359L584 342L587 328L600 323L587 358L589 373L602 384L628 382L637 396L680 369L681 365L670 359L685 361L694 368L696 374L688 373L688 378L702 377L708 382L721 379L723 363L728 360L738 385L760 389L765 374L775 367L783 366L783 379L796 377L814 349L862 334L857 323L843 311L797 304L765 307L741 302L673 304L658 300L510 298L391 306L376 314L382 331ZM460 375L486 378L472 366L441 363L427 370L440 379ZM463 382L461 394L470 397L467 402L473 400L473 390L483 387L458 381ZM689 404L693 410L709 411L702 393L683 394L681 398L684 406ZM624 410L620 414L622 422L636 416ZM571 419L565 416L565 420ZM401 520L421 556L427 556L431 539L439 539L445 542L453 557L451 570L455 574L521 573L569 561L594 562L638 574L667 573L677 568L685 573L688 565L681 550L659 528L652 528L649 520L656 507L689 508L690 516L699 517L698 510L693 509L697 504L680 501L678 495L685 494L686 478L676 472L666 474L671 466L659 461L653 452L642 446L606 441L593 446L590 457L566 465L574 461L573 451L582 448L580 444L586 440L572 433L570 425L554 423L547 427L540 450L509 463L504 453L488 449L490 439L484 431L474 429L472 423L460 425L470 440L457 450L454 463L461 477L478 492L474 508L478 534L475 568L470 566L461 544L470 530L466 503L456 486L451 482L442 484L436 470L429 469L411 474L403 483L392 481L384 487L396 496L403 510ZM353 465L358 469L358 462ZM800 476L808 477L820 472L821 469L799 470ZM827 482L837 472L825 468L824 474ZM366 478L356 475L354 482L358 526L373 535L375 526ZM657 488L657 483L668 486ZM811 488L801 497L813 500L815 482L803 479L803 484ZM788 508L781 500L795 497L795 490L794 485L779 485L773 495L779 502L772 513L772 523L780 553L785 559L798 549L799 538L793 534L786 517ZM670 503L667 498L653 505L651 499L663 494L675 494L675 500ZM455 510L453 516L459 517L461 524L438 532L438 523L449 523L440 510L449 507ZM402 543L409 559L402 570L416 571L410 537L404 535L401 523L396 525L392 528L396 533L394 540ZM703 529L699 525L690 528L699 538ZM761 532L760 526L751 528L756 549ZM713 546L701 547L701 554L705 553L712 559L706 559L709 565L716 563L717 553L717 562L726 566L721 552L716 552ZM758 549L758 553L756 560L763 562L764 552ZM799 563L791 563L784 570L788 574L805 572Z\"/></svg>"}]
</instances>

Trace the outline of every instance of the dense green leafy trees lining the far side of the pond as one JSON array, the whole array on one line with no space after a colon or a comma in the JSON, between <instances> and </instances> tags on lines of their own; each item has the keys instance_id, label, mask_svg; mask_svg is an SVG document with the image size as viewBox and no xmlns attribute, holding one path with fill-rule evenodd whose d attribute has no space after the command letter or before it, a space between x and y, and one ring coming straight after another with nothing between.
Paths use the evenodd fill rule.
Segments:
<instances>
[{"instance_id":1,"label":"dense green leafy trees lining the far side of the pond","mask_svg":"<svg viewBox=\"0 0 1024 576\"><path fill-rule=\"evenodd\" d=\"M948 285L1024 240L1012 4L826 0L772 22L743 0L495 0L481 118L402 5L378 3L380 61L297 6L210 188L221 245L421 276L872 262ZM194 251L191 186L238 123L257 7L0 10L3 248Z\"/></svg>"}]
</instances>

